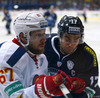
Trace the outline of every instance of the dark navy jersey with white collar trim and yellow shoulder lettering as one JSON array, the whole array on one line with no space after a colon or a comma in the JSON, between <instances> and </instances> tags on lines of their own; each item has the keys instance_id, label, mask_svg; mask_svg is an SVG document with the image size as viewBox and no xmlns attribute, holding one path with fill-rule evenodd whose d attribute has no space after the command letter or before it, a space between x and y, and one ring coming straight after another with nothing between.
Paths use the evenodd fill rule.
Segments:
<instances>
[{"instance_id":1,"label":"dark navy jersey with white collar trim and yellow shoulder lettering","mask_svg":"<svg viewBox=\"0 0 100 98\"><path fill-rule=\"evenodd\" d=\"M48 38L45 45L45 55L48 59L49 71L56 73L58 69L64 71L69 77L79 77L100 95L98 87L98 61L94 50L86 43L79 44L72 54L63 55L59 51L59 39L57 36ZM82 97L84 93L73 94L74 98ZM63 97L62 97L63 98Z\"/></svg>"}]
</instances>

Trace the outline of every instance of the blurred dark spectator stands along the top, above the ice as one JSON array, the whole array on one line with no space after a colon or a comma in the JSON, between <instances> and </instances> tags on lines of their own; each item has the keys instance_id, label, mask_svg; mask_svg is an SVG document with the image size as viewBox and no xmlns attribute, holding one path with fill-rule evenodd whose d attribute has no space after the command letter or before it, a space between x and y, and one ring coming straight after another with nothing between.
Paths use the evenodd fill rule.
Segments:
<instances>
[{"instance_id":1,"label":"blurred dark spectator stands along the top, above the ice","mask_svg":"<svg viewBox=\"0 0 100 98\"><path fill-rule=\"evenodd\" d=\"M9 10L27 10L27 9L48 9L54 5L56 9L60 10L82 10L87 7L89 10L99 10L100 0L0 0L0 8L6 6Z\"/></svg>"}]
</instances>

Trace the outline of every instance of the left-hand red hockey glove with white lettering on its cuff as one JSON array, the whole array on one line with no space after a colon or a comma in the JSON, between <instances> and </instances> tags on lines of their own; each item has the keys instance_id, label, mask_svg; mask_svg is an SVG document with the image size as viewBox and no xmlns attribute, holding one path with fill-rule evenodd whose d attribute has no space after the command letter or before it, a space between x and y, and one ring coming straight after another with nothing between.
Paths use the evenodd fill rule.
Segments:
<instances>
[{"instance_id":1,"label":"left-hand red hockey glove with white lettering on its cuff","mask_svg":"<svg viewBox=\"0 0 100 98\"><path fill-rule=\"evenodd\" d=\"M35 83L35 93L39 98L63 95L59 89L59 85L63 83L61 74L56 74L54 76L41 75Z\"/></svg>"}]
</instances>

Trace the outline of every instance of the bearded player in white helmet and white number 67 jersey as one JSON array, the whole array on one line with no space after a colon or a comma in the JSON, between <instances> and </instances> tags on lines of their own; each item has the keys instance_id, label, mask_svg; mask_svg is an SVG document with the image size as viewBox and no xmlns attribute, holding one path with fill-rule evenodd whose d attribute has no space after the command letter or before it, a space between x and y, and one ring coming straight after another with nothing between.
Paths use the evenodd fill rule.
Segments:
<instances>
[{"instance_id":1,"label":"bearded player in white helmet and white number 67 jersey","mask_svg":"<svg viewBox=\"0 0 100 98\"><path fill-rule=\"evenodd\" d=\"M42 54L47 27L44 17L39 13L24 13L13 25L16 38L0 44L0 98L60 96L63 93L59 85L63 80L70 91L71 79L62 71L47 76L48 62ZM82 81L80 89L83 90L84 85Z\"/></svg>"}]
</instances>

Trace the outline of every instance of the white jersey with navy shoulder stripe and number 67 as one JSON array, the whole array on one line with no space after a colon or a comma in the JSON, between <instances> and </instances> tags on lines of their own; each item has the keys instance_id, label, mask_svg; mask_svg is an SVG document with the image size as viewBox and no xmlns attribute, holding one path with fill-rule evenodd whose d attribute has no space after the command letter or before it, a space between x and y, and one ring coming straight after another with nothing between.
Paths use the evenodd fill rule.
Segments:
<instances>
[{"instance_id":1,"label":"white jersey with navy shoulder stripe and number 67","mask_svg":"<svg viewBox=\"0 0 100 98\"><path fill-rule=\"evenodd\" d=\"M0 98L37 98L32 85L35 75L47 74L44 54L37 62L12 41L0 44Z\"/></svg>"}]
</instances>

